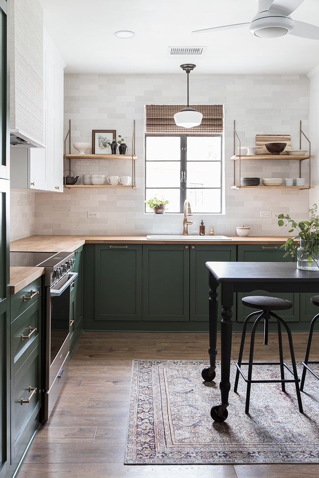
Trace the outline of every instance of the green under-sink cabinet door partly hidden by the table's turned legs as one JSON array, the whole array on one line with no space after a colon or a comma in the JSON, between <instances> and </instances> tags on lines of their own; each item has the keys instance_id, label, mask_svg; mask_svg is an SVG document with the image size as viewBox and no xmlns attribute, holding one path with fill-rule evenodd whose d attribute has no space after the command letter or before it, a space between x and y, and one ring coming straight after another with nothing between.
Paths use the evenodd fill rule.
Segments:
<instances>
[{"instance_id":1,"label":"green under-sink cabinet door partly hidden by the table's turned legs","mask_svg":"<svg viewBox=\"0 0 319 478\"><path fill-rule=\"evenodd\" d=\"M236 253L236 246L196 245L190 247L190 320L208 321L209 272L205 263L236 261ZM233 307L234 317L236 316L235 304L236 300Z\"/></svg>"}]
</instances>

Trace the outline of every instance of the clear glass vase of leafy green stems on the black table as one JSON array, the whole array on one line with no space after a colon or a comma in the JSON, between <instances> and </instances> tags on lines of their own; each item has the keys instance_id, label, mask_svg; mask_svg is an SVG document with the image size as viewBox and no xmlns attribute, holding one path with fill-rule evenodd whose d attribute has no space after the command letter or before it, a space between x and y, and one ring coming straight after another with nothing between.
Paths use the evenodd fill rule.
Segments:
<instances>
[{"instance_id":1,"label":"clear glass vase of leafy green stems on the black table","mask_svg":"<svg viewBox=\"0 0 319 478\"><path fill-rule=\"evenodd\" d=\"M308 221L295 221L289 214L276 214L278 226L291 226L289 233L294 232L295 236L289 237L281 246L286 252L297 257L297 269L311 271L319 269L319 215L318 206L313 204L309 209ZM286 223L285 223L286 220Z\"/></svg>"}]
</instances>

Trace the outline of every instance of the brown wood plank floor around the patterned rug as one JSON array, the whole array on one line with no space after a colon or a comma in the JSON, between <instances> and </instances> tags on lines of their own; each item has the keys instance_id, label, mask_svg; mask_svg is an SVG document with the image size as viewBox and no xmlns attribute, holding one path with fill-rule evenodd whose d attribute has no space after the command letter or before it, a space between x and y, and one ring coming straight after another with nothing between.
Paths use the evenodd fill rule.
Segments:
<instances>
[{"instance_id":1,"label":"brown wood plank floor around the patterned rug","mask_svg":"<svg viewBox=\"0 0 319 478\"><path fill-rule=\"evenodd\" d=\"M293 339L296 359L301 360L307 334L295 333ZM234 334L234 360L239 340ZM270 334L268 346L259 342L255 357L275 360L275 334ZM206 333L85 332L51 419L37 433L18 478L318 478L319 465L307 463L123 465L132 360L196 359L205 366L208 343ZM319 351L319 333L313 344ZM312 379L307 377L306 385L311 386Z\"/></svg>"}]
</instances>

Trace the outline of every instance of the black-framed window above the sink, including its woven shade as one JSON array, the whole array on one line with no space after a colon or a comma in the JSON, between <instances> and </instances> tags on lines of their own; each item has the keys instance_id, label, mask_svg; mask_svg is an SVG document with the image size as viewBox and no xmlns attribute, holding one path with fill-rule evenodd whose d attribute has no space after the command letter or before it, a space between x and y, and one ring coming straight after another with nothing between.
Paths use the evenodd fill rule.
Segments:
<instances>
[{"instance_id":1,"label":"black-framed window above the sink, including its woven shade","mask_svg":"<svg viewBox=\"0 0 319 478\"><path fill-rule=\"evenodd\" d=\"M202 125L185 129L173 120L182 106L153 106L160 118L152 106L146 106L145 199L169 200L169 213L183 212L186 199L193 213L221 213L223 107L194 106L203 114L213 109L217 118L204 117ZM151 212L148 206L145 212Z\"/></svg>"}]
</instances>

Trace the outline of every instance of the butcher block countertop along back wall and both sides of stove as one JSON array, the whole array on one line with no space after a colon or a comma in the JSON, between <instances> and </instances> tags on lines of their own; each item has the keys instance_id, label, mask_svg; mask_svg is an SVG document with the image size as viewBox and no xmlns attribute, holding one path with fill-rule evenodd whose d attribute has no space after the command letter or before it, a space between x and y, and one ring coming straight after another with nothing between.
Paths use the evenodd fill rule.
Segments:
<instances>
[{"instance_id":1,"label":"butcher block countertop along back wall and both sides of stove","mask_svg":"<svg viewBox=\"0 0 319 478\"><path fill-rule=\"evenodd\" d=\"M85 235L34 235L10 243L10 251L16 252L73 252L84 244L218 244L258 245L284 244L286 236L228 236L231 241L216 241L210 236L192 239L191 235L181 239L147 239L146 236L85 236ZM44 273L41 267L10 267L10 293L15 294Z\"/></svg>"}]
</instances>

